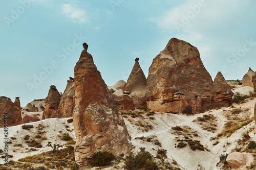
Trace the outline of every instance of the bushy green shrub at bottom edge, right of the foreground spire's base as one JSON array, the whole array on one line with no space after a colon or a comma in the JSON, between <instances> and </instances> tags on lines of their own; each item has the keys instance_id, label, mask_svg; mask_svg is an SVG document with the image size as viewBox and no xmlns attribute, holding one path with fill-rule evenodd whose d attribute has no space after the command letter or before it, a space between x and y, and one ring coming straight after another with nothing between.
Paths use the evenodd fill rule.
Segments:
<instances>
[{"instance_id":1,"label":"bushy green shrub at bottom edge, right of the foreground spire's base","mask_svg":"<svg viewBox=\"0 0 256 170\"><path fill-rule=\"evenodd\" d=\"M124 168L128 170L156 170L158 169L158 165L149 152L140 151L136 154L130 152L126 155Z\"/></svg>"}]
</instances>

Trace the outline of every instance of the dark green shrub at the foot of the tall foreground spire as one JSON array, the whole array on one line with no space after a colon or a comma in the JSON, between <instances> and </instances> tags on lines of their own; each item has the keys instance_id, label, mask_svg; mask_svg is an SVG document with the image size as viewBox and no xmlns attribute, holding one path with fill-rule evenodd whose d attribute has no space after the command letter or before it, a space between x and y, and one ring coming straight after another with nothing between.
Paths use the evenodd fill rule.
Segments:
<instances>
[{"instance_id":1,"label":"dark green shrub at the foot of the tall foreground spire","mask_svg":"<svg viewBox=\"0 0 256 170\"><path fill-rule=\"evenodd\" d=\"M111 162L115 160L116 157L114 154L110 152L95 152L92 155L92 159L88 161L88 163L91 166L105 166L105 165L111 165Z\"/></svg>"}]
</instances>

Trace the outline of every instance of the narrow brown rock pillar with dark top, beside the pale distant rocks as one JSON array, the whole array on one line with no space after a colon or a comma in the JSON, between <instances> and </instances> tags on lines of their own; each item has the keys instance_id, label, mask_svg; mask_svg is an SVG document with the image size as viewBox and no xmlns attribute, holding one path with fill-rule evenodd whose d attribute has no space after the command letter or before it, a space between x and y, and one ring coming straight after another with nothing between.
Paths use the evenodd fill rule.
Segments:
<instances>
[{"instance_id":1,"label":"narrow brown rock pillar with dark top, beside the pale distant rocks","mask_svg":"<svg viewBox=\"0 0 256 170\"><path fill-rule=\"evenodd\" d=\"M48 96L45 100L45 110L42 113L42 119L53 118L58 109L61 96L55 86L51 86Z\"/></svg>"}]
</instances>

